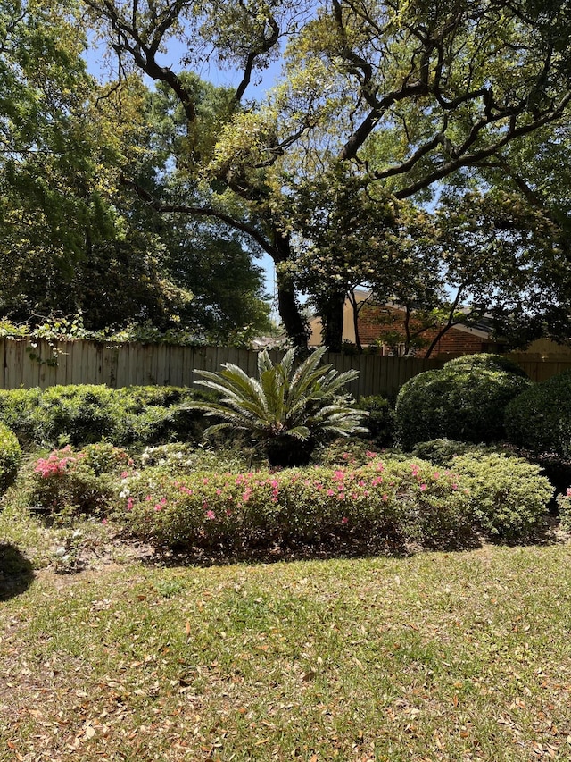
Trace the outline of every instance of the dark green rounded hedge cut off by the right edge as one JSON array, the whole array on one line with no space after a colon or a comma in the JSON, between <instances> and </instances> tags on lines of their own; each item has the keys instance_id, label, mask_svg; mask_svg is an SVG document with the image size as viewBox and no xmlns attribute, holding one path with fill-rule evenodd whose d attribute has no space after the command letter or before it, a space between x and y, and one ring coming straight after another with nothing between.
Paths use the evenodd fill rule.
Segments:
<instances>
[{"instance_id":1,"label":"dark green rounded hedge cut off by the right edge","mask_svg":"<svg viewBox=\"0 0 571 762\"><path fill-rule=\"evenodd\" d=\"M509 441L534 456L571 459L571 371L534 384L506 410Z\"/></svg>"}]
</instances>

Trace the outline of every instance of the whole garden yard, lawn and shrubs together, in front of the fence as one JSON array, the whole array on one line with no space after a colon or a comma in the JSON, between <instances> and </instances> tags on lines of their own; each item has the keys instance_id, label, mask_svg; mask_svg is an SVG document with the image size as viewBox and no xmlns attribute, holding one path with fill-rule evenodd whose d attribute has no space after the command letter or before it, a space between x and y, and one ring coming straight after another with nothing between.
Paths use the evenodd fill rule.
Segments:
<instances>
[{"instance_id":1,"label":"whole garden yard, lawn and shrubs together, in front of the fence","mask_svg":"<svg viewBox=\"0 0 571 762\"><path fill-rule=\"evenodd\" d=\"M0 758L571 759L571 490L559 525L553 484L492 426L525 389L510 422L543 437L526 421L557 395L563 420L571 379L454 362L403 388L408 452L324 438L295 468L204 446L196 415L221 406L185 389L0 394ZM294 431L308 374L284 401L264 363ZM433 423L418 395L442 383ZM342 402L305 420L349 430ZM378 444L393 412L368 406ZM475 439L434 439L460 418ZM568 485L566 431L546 451Z\"/></svg>"}]
</instances>

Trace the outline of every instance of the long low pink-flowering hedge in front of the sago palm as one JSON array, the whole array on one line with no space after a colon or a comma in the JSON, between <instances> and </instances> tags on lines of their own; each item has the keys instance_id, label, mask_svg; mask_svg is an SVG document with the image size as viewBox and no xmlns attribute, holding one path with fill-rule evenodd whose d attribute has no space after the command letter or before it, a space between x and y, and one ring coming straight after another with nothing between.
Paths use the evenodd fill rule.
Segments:
<instances>
[{"instance_id":1,"label":"long low pink-flowering hedge in front of the sago palm","mask_svg":"<svg viewBox=\"0 0 571 762\"><path fill-rule=\"evenodd\" d=\"M271 548L331 538L450 548L474 540L469 498L451 473L421 461L251 473L148 468L127 480L114 512L134 535L166 546Z\"/></svg>"}]
</instances>

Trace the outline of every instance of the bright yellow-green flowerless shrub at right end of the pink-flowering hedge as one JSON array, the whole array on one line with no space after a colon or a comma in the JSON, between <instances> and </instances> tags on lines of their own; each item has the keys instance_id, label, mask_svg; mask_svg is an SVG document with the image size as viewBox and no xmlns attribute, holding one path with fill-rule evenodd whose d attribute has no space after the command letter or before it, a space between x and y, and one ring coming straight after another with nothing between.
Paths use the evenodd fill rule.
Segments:
<instances>
[{"instance_id":1,"label":"bright yellow-green flowerless shrub at right end of the pink-flowering hedge","mask_svg":"<svg viewBox=\"0 0 571 762\"><path fill-rule=\"evenodd\" d=\"M451 467L468 487L474 521L488 537L524 540L542 530L553 488L539 466L495 453L457 456Z\"/></svg>"}]
</instances>

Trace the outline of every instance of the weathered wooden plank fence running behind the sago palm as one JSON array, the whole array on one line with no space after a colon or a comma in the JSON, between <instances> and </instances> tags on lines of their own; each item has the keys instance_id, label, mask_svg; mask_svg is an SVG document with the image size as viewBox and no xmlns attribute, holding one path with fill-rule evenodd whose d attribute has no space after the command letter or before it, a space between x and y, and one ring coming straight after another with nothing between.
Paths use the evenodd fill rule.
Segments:
<instances>
[{"instance_id":1,"label":"weathered wooden plank fence running behind the sago palm","mask_svg":"<svg viewBox=\"0 0 571 762\"><path fill-rule=\"evenodd\" d=\"M54 355L55 347L55 355ZM281 354L269 353L277 360ZM112 344L62 341L51 346L41 339L0 339L0 389L54 386L55 384L104 383L110 387L156 384L190 386L194 370L217 371L222 363L239 365L245 373L257 372L257 352L222 347L172 347L165 344ZM356 397L394 395L405 381L443 360L417 357L348 356L328 354L325 361L342 372L359 370L349 385Z\"/></svg>"}]
</instances>

